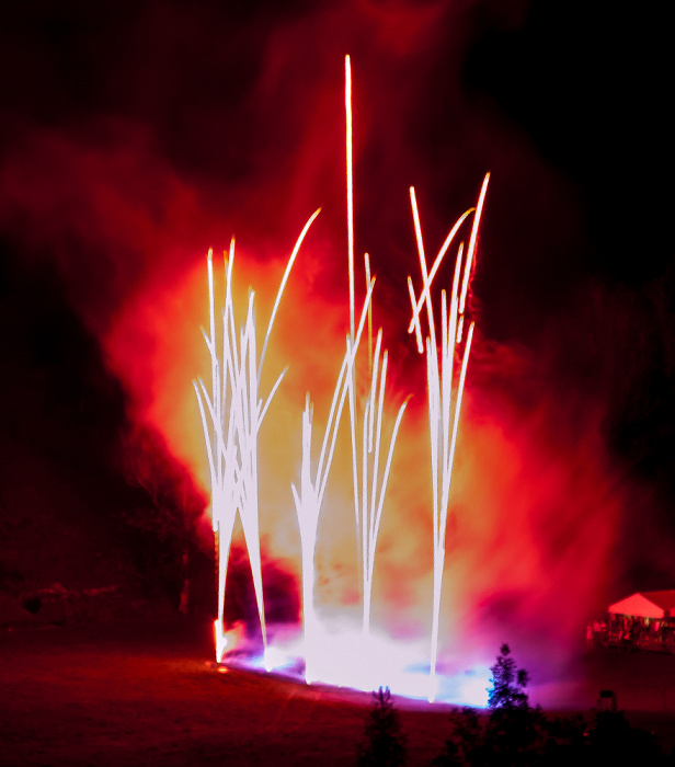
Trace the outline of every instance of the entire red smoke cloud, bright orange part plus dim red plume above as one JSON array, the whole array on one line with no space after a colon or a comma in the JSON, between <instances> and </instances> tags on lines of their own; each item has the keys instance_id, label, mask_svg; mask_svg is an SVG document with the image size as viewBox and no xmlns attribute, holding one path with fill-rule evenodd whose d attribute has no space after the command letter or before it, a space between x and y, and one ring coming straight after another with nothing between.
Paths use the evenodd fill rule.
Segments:
<instances>
[{"instance_id":1,"label":"entire red smoke cloud, bright orange part plus dim red plume above","mask_svg":"<svg viewBox=\"0 0 675 767\"><path fill-rule=\"evenodd\" d=\"M407 188L419 186L432 252L492 170L474 284L479 331L482 317L487 329L469 366L442 641L491 656L501 641L517 637L562 655L617 575L617 525L631 496L607 457L599 398L586 401L574 385L560 385L553 350L537 356L489 341L488 331L499 335L495 318L510 329L526 324L519 300L533 286L523 275L534 264L540 286L548 268L541 253L563 250L579 224L569 187L528 141L511 125L491 127L489 105L467 103L458 68L474 23L470 14L456 3L420 10L362 1L298 13L283 24L241 21L238 35L220 42L233 53L208 48L207 66L191 65L198 72L214 66L225 78L220 94L217 79L208 80L208 92L192 92L187 76L190 85L174 90L171 48L160 45L167 35L144 34L163 24L174 42L188 41L195 51L195 26L206 28L216 9L182 25L185 12L174 8L173 21L160 20L160 8L148 7L128 33L137 77L111 70L129 84L127 114L102 110L76 127L32 127L14 139L0 173L4 230L36 268L56 265L68 300L129 392L130 417L157 428L206 491L192 379L207 375L199 333L207 321L207 248L226 250L237 234L237 299L241 305L248 286L255 288L264 329L295 238L323 206L284 297L263 379L268 390L289 365L261 433L261 530L268 554L297 572L290 482L299 473L300 413L309 390L321 432L348 324L342 60L351 53L356 247L357 254L371 252L378 275L375 317L391 352L390 413L414 394L382 519L376 617L399 632L423 632L431 622L424 370L403 332L405 276L419 281ZM142 55L141 41L148 46ZM247 43L253 46L248 59ZM455 51L450 60L442 47ZM441 73L439 61L447 68ZM438 108L436 93L455 116L444 122L447 135L430 129L422 140L420 125ZM191 148L190 161L183 153ZM507 253L499 252L501 242L508 243ZM358 289L363 295L363 284ZM317 593L325 609L353 604L358 592L351 467L342 447L319 525Z\"/></svg>"}]
</instances>

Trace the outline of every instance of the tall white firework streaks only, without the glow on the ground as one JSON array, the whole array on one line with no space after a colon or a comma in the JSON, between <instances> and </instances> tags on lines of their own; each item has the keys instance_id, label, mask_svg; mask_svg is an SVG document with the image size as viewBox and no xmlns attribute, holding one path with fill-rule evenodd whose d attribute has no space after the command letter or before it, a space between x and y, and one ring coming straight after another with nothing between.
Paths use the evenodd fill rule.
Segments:
<instances>
[{"instance_id":1,"label":"tall white firework streaks only, without the glow on the ground","mask_svg":"<svg viewBox=\"0 0 675 767\"><path fill-rule=\"evenodd\" d=\"M338 428L342 415L345 399L348 397L350 403L350 436L352 444L352 470L354 488L354 508L357 538L361 534L361 570L363 577L363 633L364 640L369 639L370 633L370 607L373 595L373 579L375 572L375 554L377 549L377 538L381 523L385 494L391 463L396 439L401 425L401 420L408 404L408 400L399 408L399 412L391 428L389 448L384 468L381 466L381 433L384 425L385 388L387 384L388 353L382 352L382 331L378 331L375 352L371 348L371 314L370 302L374 282L370 279L369 259L365 257L365 272L367 281L367 296L361 313L358 330L355 327L354 316L354 226L353 226L353 180L352 180L352 108L351 108L351 61L345 58L345 105L346 105L346 148L347 148L347 240L348 240L348 279L350 279L350 333L346 339L346 353L334 387L328 424L324 432L323 444L314 479L311 477L311 436L312 436L312 413L309 394L306 398L306 407L302 413L302 458L300 471L300 490L291 485L293 496L298 516L301 547L301 579L302 579L302 615L305 630L305 659L306 679L310 682L314 678L319 655L324 653L324 648L319 649L319 625L313 605L314 588L314 556L317 543L317 528L319 515L325 492L328 476L333 460ZM438 350L436 341L436 329L434 311L431 296L431 279L427 272L426 259L420 216L416 206L414 190L411 187L412 213L417 241L420 265L422 268L422 299L416 300L412 281L409 278L409 289L413 310L412 325L415 329L417 347L422 348L422 332L420 323L420 309L422 304L426 308L428 323L428 336L426 337L426 371L427 371L427 394L430 413L430 435L431 435L431 465L432 465L432 514L434 524L434 560L433 560L433 618L432 618L432 651L431 651L431 692L430 701L434 699L437 691L436 663L438 655L438 621L441 610L441 586L443 581L443 570L445 565L445 534L447 526L450 479L453 463L457 445L457 431L459 425L459 414L461 410L461 398L467 373L467 365L473 335L473 323L471 323L464 352L461 355L461 370L456 391L453 394L453 363L456 350L462 342L462 325L466 296L471 275L473 254L476 250L480 215L488 188L489 175L483 182L479 202L473 217L473 226L469 239L466 263L464 264L464 278L460 285L460 272L462 265L464 248L460 245L456 262L455 278L450 299L450 311L448 317L447 299L445 290L442 291L442 343L441 363L438 363ZM260 561L260 538L258 517L258 431L260 423L267 410L267 407L276 391L282 376L272 388L264 407L262 400L258 399L258 384L262 365L267 348L270 332L274 322L274 317L278 304L290 273L290 268L297 255L298 249L314 214L307 222L300 234L296 248L290 256L286 272L282 279L260 363L256 362L255 352L255 323L253 319L253 291L249 294L249 310L244 330L240 330L240 345L237 345L237 327L234 322L231 275L233 264L233 242L230 248L230 259L227 266L226 278L226 300L224 311L224 341L222 359L218 358L216 348L215 310L214 310L214 281L211 253L208 256L208 284L209 284L209 335L204 332L207 348L211 359L211 393L209 396L206 386L199 380L199 386L195 384L195 391L199 403L199 412L206 438L206 446L209 459L211 495L213 495L213 523L216 533L216 545L218 549L218 619L216 621L216 653L220 661L226 645L224 627L224 604L225 604L225 579L229 549L231 545L233 522L237 510L243 525L243 533L249 549L251 568L253 571L253 582L258 602L259 616L263 632L263 645L265 666L272 663L267 652L267 638L265 629L264 602L262 593L262 572ZM438 267L444 254L447 252L455 233L466 218L453 227L450 234L446 238L434 266ZM434 270L435 273L435 270ZM358 412L356 407L356 356L364 324L368 318L368 363L369 363L369 385L368 393L363 403L361 413L361 456L357 444ZM229 396L228 396L229 391ZM453 410L454 403L454 410ZM211 430L208 427L205 405L208 410ZM358 409L361 410L361 408ZM227 436L226 436L227 435ZM327 454L328 449L328 454ZM359 460L361 458L361 460ZM361 462L361 474L358 463ZM380 474L381 471L381 474ZM323 645L324 642L321 642ZM364 645L365 646L365 645ZM362 682L363 684L363 682Z\"/></svg>"}]
</instances>

